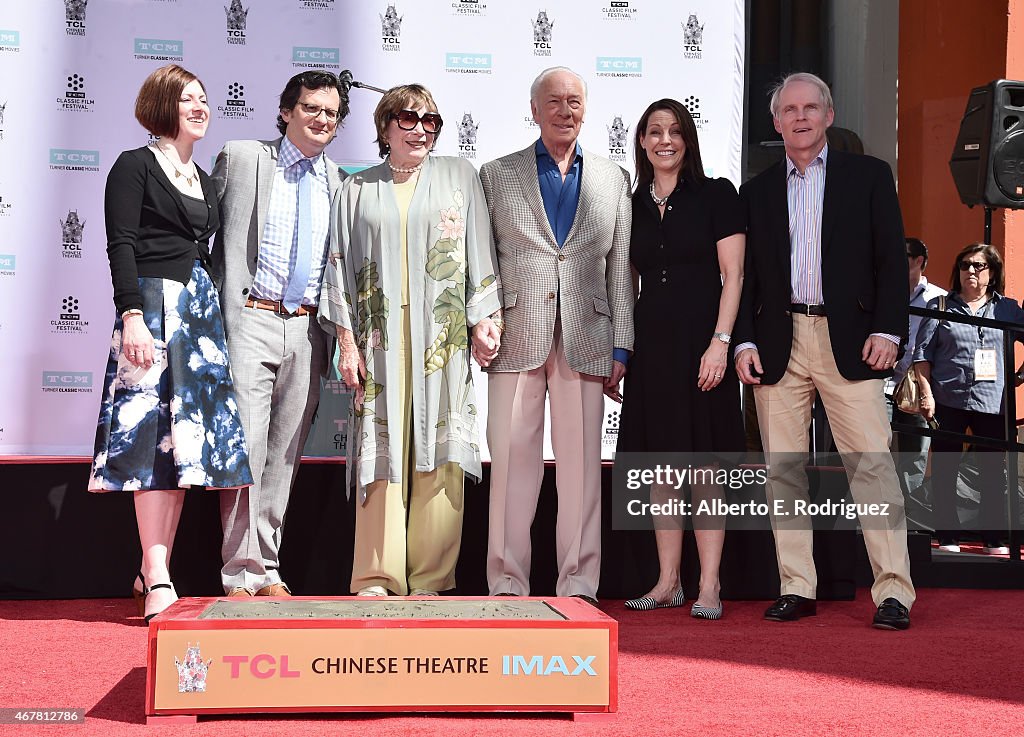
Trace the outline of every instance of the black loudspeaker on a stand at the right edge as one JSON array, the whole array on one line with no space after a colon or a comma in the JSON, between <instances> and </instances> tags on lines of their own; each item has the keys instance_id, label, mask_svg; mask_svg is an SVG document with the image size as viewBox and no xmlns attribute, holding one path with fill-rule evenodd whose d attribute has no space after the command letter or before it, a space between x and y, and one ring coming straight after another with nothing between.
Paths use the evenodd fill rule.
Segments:
<instances>
[{"instance_id":1,"label":"black loudspeaker on a stand at the right edge","mask_svg":"<svg viewBox=\"0 0 1024 737\"><path fill-rule=\"evenodd\" d=\"M1024 82L971 90L949 171L965 205L1024 209Z\"/></svg>"}]
</instances>

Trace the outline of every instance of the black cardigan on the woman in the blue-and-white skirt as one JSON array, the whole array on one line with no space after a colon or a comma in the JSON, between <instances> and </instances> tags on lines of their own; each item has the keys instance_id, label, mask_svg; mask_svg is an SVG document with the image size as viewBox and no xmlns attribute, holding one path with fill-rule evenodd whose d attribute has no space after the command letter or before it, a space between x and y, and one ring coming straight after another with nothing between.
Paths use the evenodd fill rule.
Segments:
<instances>
[{"instance_id":1,"label":"black cardigan on the woman in the blue-and-white skirt","mask_svg":"<svg viewBox=\"0 0 1024 737\"><path fill-rule=\"evenodd\" d=\"M106 176L103 213L106 256L111 262L118 314L142 307L139 276L188 284L193 264L210 265L210 239L220 227L213 183L198 166L210 220L198 236L177 187L160 168L148 146L123 151Z\"/></svg>"}]
</instances>

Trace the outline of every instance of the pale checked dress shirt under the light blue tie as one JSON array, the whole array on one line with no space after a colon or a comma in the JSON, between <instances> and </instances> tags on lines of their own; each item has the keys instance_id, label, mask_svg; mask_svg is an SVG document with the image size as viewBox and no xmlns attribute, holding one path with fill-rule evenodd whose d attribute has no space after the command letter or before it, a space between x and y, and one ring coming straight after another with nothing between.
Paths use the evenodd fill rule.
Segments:
<instances>
[{"instance_id":1,"label":"pale checked dress shirt under the light blue tie","mask_svg":"<svg viewBox=\"0 0 1024 737\"><path fill-rule=\"evenodd\" d=\"M273 173L266 224L259 245L259 263L251 291L253 297L284 299L288 281L295 269L296 251L299 247L299 233L296 229L299 217L299 176L302 173L299 161L302 158L302 151L285 136L278 154L278 168ZM331 193L328 189L324 155L319 154L309 161L312 164L309 175L313 177L309 187L313 234L309 280L302 296L302 304L315 305L319 299L324 266L327 264Z\"/></svg>"}]
</instances>

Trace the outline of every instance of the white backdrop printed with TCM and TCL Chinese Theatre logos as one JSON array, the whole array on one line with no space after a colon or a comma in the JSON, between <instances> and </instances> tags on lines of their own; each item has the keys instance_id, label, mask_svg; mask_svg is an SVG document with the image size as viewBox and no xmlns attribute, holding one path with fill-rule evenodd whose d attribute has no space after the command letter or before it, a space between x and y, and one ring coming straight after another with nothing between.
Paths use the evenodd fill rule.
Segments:
<instances>
[{"instance_id":1,"label":"white backdrop printed with TCM and TCL Chinese Theatre logos","mask_svg":"<svg viewBox=\"0 0 1024 737\"><path fill-rule=\"evenodd\" d=\"M659 97L693 114L709 173L739 183L743 0L31 0L0 6L0 456L90 456L110 344L102 192L118 154L147 142L133 107L180 63L225 140L276 136L276 100L306 68L378 87L421 82L447 125L439 154L479 166L538 136L529 84L564 64L589 84L581 142L633 171L634 126ZM379 162L378 94L351 91L329 155ZM485 398L485 380L478 392ZM343 454L329 382L308 452ZM608 405L605 457L617 410ZM549 444L550 457L550 444Z\"/></svg>"}]
</instances>

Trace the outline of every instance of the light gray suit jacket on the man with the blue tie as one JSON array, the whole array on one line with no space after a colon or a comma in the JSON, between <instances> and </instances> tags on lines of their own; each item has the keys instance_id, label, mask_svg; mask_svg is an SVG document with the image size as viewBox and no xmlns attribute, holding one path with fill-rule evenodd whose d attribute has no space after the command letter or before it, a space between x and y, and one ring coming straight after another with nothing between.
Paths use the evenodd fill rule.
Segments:
<instances>
[{"instance_id":1,"label":"light gray suit jacket on the man with the blue tie","mask_svg":"<svg viewBox=\"0 0 1024 737\"><path fill-rule=\"evenodd\" d=\"M220 201L221 223L212 253L213 277L220 292L228 333L245 309L256 277L259 244L270 207L281 140L227 141L210 175ZM338 165L326 154L324 158L333 201L341 184L341 175ZM325 365L331 362L331 349L332 342L325 341L325 350L329 351Z\"/></svg>"}]
</instances>

